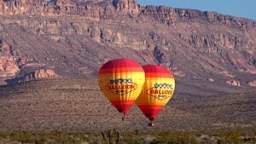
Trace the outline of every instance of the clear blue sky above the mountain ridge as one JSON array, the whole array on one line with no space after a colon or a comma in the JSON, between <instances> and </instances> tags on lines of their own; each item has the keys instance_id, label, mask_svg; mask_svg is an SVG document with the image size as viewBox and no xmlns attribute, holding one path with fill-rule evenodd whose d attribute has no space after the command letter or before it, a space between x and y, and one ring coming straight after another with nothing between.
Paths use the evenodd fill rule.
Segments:
<instances>
[{"instance_id":1,"label":"clear blue sky above the mountain ridge","mask_svg":"<svg viewBox=\"0 0 256 144\"><path fill-rule=\"evenodd\" d=\"M216 11L256 20L256 0L137 0L137 3Z\"/></svg>"}]
</instances>

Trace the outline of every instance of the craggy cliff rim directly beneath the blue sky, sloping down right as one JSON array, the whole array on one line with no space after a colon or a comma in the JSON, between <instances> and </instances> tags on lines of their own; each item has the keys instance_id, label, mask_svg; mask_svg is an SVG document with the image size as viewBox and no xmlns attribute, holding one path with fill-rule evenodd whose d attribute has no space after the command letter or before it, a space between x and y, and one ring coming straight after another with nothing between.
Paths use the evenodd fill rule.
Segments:
<instances>
[{"instance_id":1,"label":"craggy cliff rim directly beneath the blue sky, sloping down right","mask_svg":"<svg viewBox=\"0 0 256 144\"><path fill-rule=\"evenodd\" d=\"M194 9L173 9L170 7L160 6L143 6L142 14L154 17L154 20L173 25L178 20L207 20L209 22L220 22L226 26L236 26L247 28L256 26L255 21L235 18L228 15L218 14L216 12L207 12Z\"/></svg>"}]
</instances>

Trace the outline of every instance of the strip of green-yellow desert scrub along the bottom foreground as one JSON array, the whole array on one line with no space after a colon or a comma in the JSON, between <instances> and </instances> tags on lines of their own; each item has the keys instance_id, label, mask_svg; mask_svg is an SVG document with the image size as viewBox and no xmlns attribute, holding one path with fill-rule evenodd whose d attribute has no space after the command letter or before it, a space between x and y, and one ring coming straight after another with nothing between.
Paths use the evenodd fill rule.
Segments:
<instances>
[{"instance_id":1,"label":"strip of green-yellow desert scrub along the bottom foreground","mask_svg":"<svg viewBox=\"0 0 256 144\"><path fill-rule=\"evenodd\" d=\"M7 132L0 133L0 143L124 143L124 144L253 144L256 130L209 130L209 131L130 131L119 132Z\"/></svg>"}]
</instances>

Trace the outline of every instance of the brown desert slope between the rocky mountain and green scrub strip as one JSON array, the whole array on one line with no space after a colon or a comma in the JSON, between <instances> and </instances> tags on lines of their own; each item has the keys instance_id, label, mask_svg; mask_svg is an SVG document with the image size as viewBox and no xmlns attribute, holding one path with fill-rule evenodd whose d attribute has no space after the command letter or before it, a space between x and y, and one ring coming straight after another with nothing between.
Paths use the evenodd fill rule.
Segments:
<instances>
[{"instance_id":1,"label":"brown desert slope between the rocky mountain and green scrub strip","mask_svg":"<svg viewBox=\"0 0 256 144\"><path fill-rule=\"evenodd\" d=\"M125 122L96 79L44 79L0 87L0 131L219 130L255 129L256 93L176 95L154 127L137 108Z\"/></svg>"}]
</instances>

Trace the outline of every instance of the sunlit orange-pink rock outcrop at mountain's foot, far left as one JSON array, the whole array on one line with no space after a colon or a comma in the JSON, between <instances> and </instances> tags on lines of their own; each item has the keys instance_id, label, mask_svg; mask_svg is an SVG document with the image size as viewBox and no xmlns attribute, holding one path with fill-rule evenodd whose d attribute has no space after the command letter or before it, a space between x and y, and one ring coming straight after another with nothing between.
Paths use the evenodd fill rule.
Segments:
<instances>
[{"instance_id":1,"label":"sunlit orange-pink rock outcrop at mountain's foot, far left","mask_svg":"<svg viewBox=\"0 0 256 144\"><path fill-rule=\"evenodd\" d=\"M0 40L0 80L26 82L40 78L56 78L54 70L41 69L44 64L32 63L26 57L18 57L9 43ZM15 80L11 80L11 79ZM1 82L3 84L3 82Z\"/></svg>"}]
</instances>

